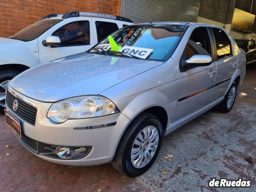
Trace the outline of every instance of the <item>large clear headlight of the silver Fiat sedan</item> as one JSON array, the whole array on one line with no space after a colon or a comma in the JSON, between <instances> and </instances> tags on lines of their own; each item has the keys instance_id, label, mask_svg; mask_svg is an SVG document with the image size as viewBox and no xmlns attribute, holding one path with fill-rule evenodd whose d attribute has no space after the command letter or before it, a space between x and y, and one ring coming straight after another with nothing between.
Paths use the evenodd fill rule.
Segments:
<instances>
[{"instance_id":1,"label":"large clear headlight of the silver Fiat sedan","mask_svg":"<svg viewBox=\"0 0 256 192\"><path fill-rule=\"evenodd\" d=\"M68 119L83 119L110 115L118 108L102 96L79 96L54 103L48 111L53 122L63 123Z\"/></svg>"}]
</instances>

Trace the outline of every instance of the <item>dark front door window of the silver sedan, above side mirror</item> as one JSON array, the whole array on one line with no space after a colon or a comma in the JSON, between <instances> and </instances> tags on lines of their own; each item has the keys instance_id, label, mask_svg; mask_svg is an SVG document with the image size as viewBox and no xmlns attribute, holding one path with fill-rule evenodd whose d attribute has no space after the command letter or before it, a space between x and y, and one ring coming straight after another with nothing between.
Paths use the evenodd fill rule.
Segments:
<instances>
[{"instance_id":1,"label":"dark front door window of the silver sedan, above side mirror","mask_svg":"<svg viewBox=\"0 0 256 192\"><path fill-rule=\"evenodd\" d=\"M206 27L196 28L188 40L188 44L185 48L186 60L191 58L193 55L210 55L210 40L208 30Z\"/></svg>"}]
</instances>

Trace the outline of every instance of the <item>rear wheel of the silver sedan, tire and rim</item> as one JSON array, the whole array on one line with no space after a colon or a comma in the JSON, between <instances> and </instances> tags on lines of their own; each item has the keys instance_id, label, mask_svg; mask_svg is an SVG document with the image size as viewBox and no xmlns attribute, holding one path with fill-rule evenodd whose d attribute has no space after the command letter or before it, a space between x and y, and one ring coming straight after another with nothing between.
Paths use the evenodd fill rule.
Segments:
<instances>
[{"instance_id":1,"label":"rear wheel of the silver sedan, tire and rim","mask_svg":"<svg viewBox=\"0 0 256 192\"><path fill-rule=\"evenodd\" d=\"M224 112L224 113L230 112L236 100L236 92L237 92L237 84L236 82L233 82L232 86L230 87L227 94L225 95L224 100L218 105L218 108L221 112ZM233 101L232 101L232 104L228 105L230 94L232 95Z\"/></svg>"}]
</instances>

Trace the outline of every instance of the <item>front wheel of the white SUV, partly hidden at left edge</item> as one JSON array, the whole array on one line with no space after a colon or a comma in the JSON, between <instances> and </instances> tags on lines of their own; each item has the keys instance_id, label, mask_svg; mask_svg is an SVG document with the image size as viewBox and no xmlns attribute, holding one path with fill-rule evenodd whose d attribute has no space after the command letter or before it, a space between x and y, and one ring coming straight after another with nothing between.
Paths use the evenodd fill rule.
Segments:
<instances>
[{"instance_id":1,"label":"front wheel of the white SUV, partly hidden at left edge","mask_svg":"<svg viewBox=\"0 0 256 192\"><path fill-rule=\"evenodd\" d=\"M20 74L17 71L2 71L0 72L0 114L4 114L5 94L8 84L12 78Z\"/></svg>"}]
</instances>

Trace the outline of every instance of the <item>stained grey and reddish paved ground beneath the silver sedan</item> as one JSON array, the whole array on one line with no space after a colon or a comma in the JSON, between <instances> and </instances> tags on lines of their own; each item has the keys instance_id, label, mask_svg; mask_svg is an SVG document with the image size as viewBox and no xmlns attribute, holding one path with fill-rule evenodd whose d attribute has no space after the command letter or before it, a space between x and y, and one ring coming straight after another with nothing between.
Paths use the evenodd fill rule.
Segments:
<instances>
[{"instance_id":1,"label":"stained grey and reddish paved ground beneath the silver sedan","mask_svg":"<svg viewBox=\"0 0 256 192\"><path fill-rule=\"evenodd\" d=\"M230 113L212 109L166 136L154 165L138 178L123 176L110 164L72 167L37 158L16 140L1 115L0 192L256 191L256 65L247 69L238 94L243 97L237 96ZM170 161L164 159L167 154L173 154ZM251 179L252 187L210 189L212 177Z\"/></svg>"}]
</instances>

